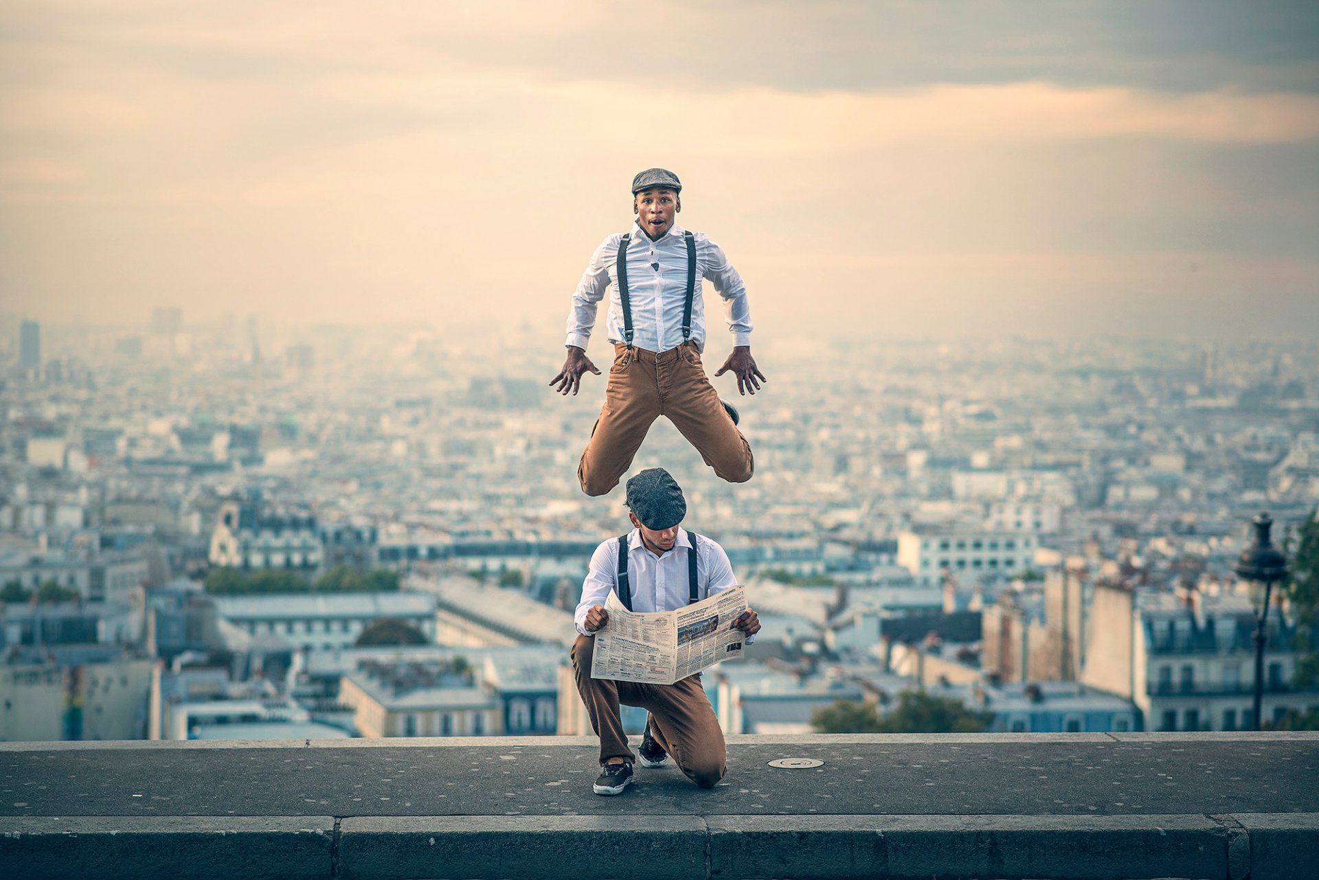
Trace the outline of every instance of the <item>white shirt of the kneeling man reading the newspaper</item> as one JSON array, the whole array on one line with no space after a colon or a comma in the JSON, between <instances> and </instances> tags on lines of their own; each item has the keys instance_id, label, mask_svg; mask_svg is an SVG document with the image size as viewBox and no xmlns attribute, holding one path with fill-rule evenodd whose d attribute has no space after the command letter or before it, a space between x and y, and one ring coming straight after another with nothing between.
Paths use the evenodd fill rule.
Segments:
<instances>
[{"instance_id":1,"label":"white shirt of the kneeling man reading the newspaper","mask_svg":"<svg viewBox=\"0 0 1319 880\"><path fill-rule=\"evenodd\" d=\"M673 549L656 556L641 540L641 530L633 528L628 535L628 586L632 591L633 611L677 611L689 605L691 594L687 589L687 555L691 553L691 536L687 530L678 530L678 540ZM594 605L604 605L615 584L619 581L619 539L611 537L595 548L586 581L582 584L582 601L574 615L578 632L595 635L586 630L586 613ZM721 593L729 586L737 586L732 563L724 548L706 536L700 537L696 552L696 601ZM747 639L751 643L751 638Z\"/></svg>"}]
</instances>

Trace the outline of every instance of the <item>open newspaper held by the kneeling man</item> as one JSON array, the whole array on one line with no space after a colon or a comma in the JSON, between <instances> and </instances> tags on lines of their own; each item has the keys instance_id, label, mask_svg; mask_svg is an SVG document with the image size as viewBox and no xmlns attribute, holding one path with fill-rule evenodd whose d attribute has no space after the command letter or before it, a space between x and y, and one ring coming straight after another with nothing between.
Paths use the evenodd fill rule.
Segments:
<instances>
[{"instance_id":1,"label":"open newspaper held by the kneeling man","mask_svg":"<svg viewBox=\"0 0 1319 880\"><path fill-rule=\"evenodd\" d=\"M747 610L747 589L731 586L678 611L637 613L612 590L609 623L595 634L592 678L671 685L721 660L744 656L747 634L733 628Z\"/></svg>"}]
</instances>

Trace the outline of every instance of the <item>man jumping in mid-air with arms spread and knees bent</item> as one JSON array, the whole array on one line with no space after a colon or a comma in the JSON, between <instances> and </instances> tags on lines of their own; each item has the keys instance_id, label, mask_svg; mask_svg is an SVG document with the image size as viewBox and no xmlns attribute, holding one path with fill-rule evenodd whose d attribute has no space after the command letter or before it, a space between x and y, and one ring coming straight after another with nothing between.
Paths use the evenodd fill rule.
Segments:
<instances>
[{"instance_id":1,"label":"man jumping in mid-air with arms spread and knees bent","mask_svg":"<svg viewBox=\"0 0 1319 880\"><path fill-rule=\"evenodd\" d=\"M721 403L700 361L706 346L702 279L723 298L732 354L715 375L732 373L740 394L754 394L765 375L751 356L751 308L741 275L723 249L703 232L687 232L675 220L682 183L673 171L646 169L632 179L636 221L627 233L605 238L572 292L567 321L567 360L550 385L576 394L583 373L600 374L586 356L596 304L609 296L608 339L613 365L604 407L578 465L587 495L619 485L661 415L700 452L715 474L729 482L751 480L753 460L737 429L737 411Z\"/></svg>"}]
</instances>

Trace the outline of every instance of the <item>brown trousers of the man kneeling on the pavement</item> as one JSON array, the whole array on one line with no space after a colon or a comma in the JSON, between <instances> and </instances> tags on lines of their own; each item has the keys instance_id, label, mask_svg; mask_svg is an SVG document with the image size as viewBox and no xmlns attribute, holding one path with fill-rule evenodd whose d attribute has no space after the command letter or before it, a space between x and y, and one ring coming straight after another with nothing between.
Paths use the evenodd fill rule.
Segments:
<instances>
[{"instance_id":1,"label":"brown trousers of the man kneeling on the pavement","mask_svg":"<svg viewBox=\"0 0 1319 880\"><path fill-rule=\"evenodd\" d=\"M650 713L656 742L669 752L678 769L700 788L714 788L728 769L727 750L724 731L700 685L700 673L671 685L592 678L594 653L594 638L579 635L572 643L572 671L591 727L600 738L600 763L611 757L633 760L619 719L619 703L641 706Z\"/></svg>"}]
</instances>

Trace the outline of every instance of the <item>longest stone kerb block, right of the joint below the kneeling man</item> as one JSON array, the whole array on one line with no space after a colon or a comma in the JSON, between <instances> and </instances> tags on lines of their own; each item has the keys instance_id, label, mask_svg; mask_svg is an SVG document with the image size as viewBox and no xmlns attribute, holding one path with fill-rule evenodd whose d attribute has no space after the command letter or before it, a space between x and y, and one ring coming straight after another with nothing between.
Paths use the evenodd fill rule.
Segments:
<instances>
[{"instance_id":1,"label":"longest stone kerb block, right of the joint below the kneeling man","mask_svg":"<svg viewBox=\"0 0 1319 880\"><path fill-rule=\"evenodd\" d=\"M1200 815L710 817L711 877L1227 877Z\"/></svg>"}]
</instances>

